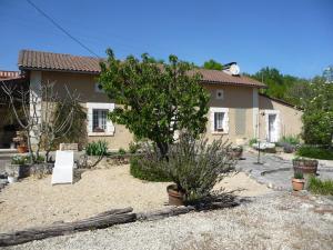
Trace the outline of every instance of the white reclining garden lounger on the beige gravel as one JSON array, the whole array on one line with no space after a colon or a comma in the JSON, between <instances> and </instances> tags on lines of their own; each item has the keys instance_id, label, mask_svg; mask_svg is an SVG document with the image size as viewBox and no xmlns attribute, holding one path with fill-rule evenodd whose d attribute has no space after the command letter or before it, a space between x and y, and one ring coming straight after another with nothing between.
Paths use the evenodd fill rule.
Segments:
<instances>
[{"instance_id":1,"label":"white reclining garden lounger on the beige gravel","mask_svg":"<svg viewBox=\"0 0 333 250\"><path fill-rule=\"evenodd\" d=\"M56 163L52 172L52 184L73 183L73 167L74 153L73 151L56 152Z\"/></svg>"}]
</instances>

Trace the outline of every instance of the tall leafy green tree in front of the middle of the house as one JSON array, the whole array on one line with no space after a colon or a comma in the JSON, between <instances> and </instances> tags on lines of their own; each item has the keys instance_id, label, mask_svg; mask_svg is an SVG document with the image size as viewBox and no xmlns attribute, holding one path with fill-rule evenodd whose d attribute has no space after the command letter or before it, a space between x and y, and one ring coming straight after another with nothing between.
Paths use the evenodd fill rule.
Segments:
<instances>
[{"instance_id":1,"label":"tall leafy green tree in front of the middle of the house","mask_svg":"<svg viewBox=\"0 0 333 250\"><path fill-rule=\"evenodd\" d=\"M141 61L132 56L124 61L107 50L99 82L118 107L109 118L124 124L137 138L157 143L164 158L178 130L193 137L204 132L209 94L199 84L201 76L190 63L169 57L157 63L145 53Z\"/></svg>"}]
</instances>

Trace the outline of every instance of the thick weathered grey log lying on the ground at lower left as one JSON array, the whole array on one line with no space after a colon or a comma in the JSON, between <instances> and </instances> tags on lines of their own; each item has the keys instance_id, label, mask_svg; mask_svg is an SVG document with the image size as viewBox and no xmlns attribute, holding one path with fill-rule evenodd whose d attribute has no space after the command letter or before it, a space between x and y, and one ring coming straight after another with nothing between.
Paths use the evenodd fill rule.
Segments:
<instances>
[{"instance_id":1,"label":"thick weathered grey log lying on the ground at lower left","mask_svg":"<svg viewBox=\"0 0 333 250\"><path fill-rule=\"evenodd\" d=\"M137 220L135 213L129 213L133 209L114 209L89 219L74 222L57 223L49 227L30 228L10 233L0 233L0 247L26 243L56 236L64 236L77 231L102 229L113 224L128 223Z\"/></svg>"}]
</instances>

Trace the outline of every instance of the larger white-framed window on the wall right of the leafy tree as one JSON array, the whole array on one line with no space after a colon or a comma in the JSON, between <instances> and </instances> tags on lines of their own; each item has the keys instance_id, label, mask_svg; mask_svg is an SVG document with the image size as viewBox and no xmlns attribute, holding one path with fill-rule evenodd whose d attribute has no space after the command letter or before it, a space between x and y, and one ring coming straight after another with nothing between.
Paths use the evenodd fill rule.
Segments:
<instances>
[{"instance_id":1,"label":"larger white-framed window on the wall right of the leafy tree","mask_svg":"<svg viewBox=\"0 0 333 250\"><path fill-rule=\"evenodd\" d=\"M210 108L210 126L212 133L229 133L229 109Z\"/></svg>"}]
</instances>

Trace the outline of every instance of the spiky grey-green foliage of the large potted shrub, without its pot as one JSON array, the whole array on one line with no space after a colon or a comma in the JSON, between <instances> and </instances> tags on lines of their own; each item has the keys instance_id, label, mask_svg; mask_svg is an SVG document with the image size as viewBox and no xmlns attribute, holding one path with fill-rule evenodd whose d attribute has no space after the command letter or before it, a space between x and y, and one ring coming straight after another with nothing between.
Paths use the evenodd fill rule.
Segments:
<instances>
[{"instance_id":1,"label":"spiky grey-green foliage of the large potted shrub, without its pot","mask_svg":"<svg viewBox=\"0 0 333 250\"><path fill-rule=\"evenodd\" d=\"M234 170L230 148L222 139L208 144L208 139L194 140L182 134L178 143L170 146L163 168L188 202L198 201L209 197L215 183Z\"/></svg>"}]
</instances>

